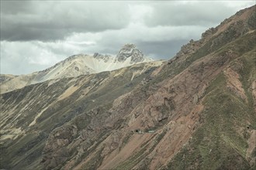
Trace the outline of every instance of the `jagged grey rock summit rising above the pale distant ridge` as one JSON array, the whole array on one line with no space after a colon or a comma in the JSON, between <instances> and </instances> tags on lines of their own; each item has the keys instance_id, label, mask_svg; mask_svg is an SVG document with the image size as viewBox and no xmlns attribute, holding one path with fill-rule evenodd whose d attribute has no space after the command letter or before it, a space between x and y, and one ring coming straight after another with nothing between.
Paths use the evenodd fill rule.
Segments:
<instances>
[{"instance_id":1,"label":"jagged grey rock summit rising above the pale distant ridge","mask_svg":"<svg viewBox=\"0 0 256 170\"><path fill-rule=\"evenodd\" d=\"M134 44L128 43L119 50L116 60L123 62L128 58L130 58L130 63L139 63L144 61L144 54Z\"/></svg>"}]
</instances>

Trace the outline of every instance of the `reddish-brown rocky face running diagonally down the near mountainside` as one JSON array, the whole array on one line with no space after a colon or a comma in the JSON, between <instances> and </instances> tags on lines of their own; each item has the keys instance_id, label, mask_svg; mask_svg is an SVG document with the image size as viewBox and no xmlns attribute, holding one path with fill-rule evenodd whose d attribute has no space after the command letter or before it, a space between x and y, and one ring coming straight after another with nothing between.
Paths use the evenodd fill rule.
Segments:
<instances>
[{"instance_id":1,"label":"reddish-brown rocky face running diagonally down the near mountainside","mask_svg":"<svg viewBox=\"0 0 256 170\"><path fill-rule=\"evenodd\" d=\"M240 32L235 34L237 38L246 32L241 31L244 30L240 29L242 25L234 22L234 19L240 19L245 15L244 12L232 16L230 21L233 24L227 26L226 32L230 32L229 30ZM85 143L85 141L88 142L88 138L103 141L97 144L94 151L90 151L90 155L84 158L83 162L76 165L76 159L73 158L67 165L76 168L87 167L97 157L98 162L95 166L99 169L166 167L168 162L175 160L175 155L178 155L179 151L192 147L194 133L206 124L207 120L203 115L205 110L209 109L206 104L206 94L211 93L209 89L213 88L213 82L221 74L226 80L223 83L226 84L227 90L247 103L239 69L234 71L237 67L234 67L233 61L239 58L240 54L232 46L221 53L214 51L216 46L220 46L222 41L227 39L223 36L225 29L220 31L222 28L223 26L220 25L216 29L209 29L201 40L190 41L182 47L181 52L171 63L157 68L150 74L150 79L144 78L130 93L114 100L112 107L106 113L97 114L97 118L92 119L88 128L81 131L81 140L74 140L65 145L65 148L72 148L74 144L78 145L78 148L83 148L78 151L79 157L85 155L86 151L90 151L88 143ZM229 41L232 42L233 38ZM212 43L212 46L207 49L209 52L206 51L205 56L195 59L180 73L171 74L173 73L171 69L175 69L172 66L185 64L189 61L189 57L197 55L199 50L208 46L209 43ZM154 82L164 73L168 73L167 70L171 70L169 76L165 75L161 81ZM253 85L254 81L251 85L254 95ZM106 115L109 116L106 117ZM103 135L104 138L102 131L106 131L107 134ZM58 143L57 140L55 142ZM136 157L139 154L140 156ZM140 161L128 164L127 162L132 161L133 158ZM240 160L241 165L244 164L240 157L237 159ZM64 162L66 161L63 160L61 164ZM199 165L195 162L195 165L191 166Z\"/></svg>"}]
</instances>

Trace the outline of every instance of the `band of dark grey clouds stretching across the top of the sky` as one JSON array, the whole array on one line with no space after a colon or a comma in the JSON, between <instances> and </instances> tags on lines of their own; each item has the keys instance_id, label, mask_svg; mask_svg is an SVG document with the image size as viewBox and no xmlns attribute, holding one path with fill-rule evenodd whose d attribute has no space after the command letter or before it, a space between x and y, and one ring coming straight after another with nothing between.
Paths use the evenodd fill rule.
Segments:
<instances>
[{"instance_id":1,"label":"band of dark grey clouds stretching across the top of the sky","mask_svg":"<svg viewBox=\"0 0 256 170\"><path fill-rule=\"evenodd\" d=\"M123 29L133 22L131 12L143 12L145 6L150 11L140 22L149 27L213 26L237 10L221 3L1 1L1 40L47 42L65 39L77 32Z\"/></svg>"}]
</instances>

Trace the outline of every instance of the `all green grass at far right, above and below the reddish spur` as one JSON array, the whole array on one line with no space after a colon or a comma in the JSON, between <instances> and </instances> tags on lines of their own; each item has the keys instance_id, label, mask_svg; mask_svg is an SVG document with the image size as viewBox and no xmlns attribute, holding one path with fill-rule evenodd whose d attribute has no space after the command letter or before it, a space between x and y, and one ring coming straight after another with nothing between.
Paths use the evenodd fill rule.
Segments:
<instances>
[{"instance_id":1,"label":"all green grass at far right, above and below the reddish spur","mask_svg":"<svg viewBox=\"0 0 256 170\"><path fill-rule=\"evenodd\" d=\"M247 138L251 130L256 130L256 114L250 89L252 81L256 80L254 36L245 35L217 52L221 55L232 49L240 56L230 65L241 66L238 73L248 103L227 89L226 77L220 73L206 91L202 126L195 131L189 145L175 155L168 169L250 168L246 159ZM254 165L251 168L256 167Z\"/></svg>"}]
</instances>

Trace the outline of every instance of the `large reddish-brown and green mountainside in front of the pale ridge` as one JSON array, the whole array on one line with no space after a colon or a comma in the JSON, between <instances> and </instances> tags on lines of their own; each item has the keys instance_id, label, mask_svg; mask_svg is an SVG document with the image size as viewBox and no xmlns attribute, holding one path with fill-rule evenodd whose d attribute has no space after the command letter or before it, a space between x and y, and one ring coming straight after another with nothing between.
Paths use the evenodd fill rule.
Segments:
<instances>
[{"instance_id":1,"label":"large reddish-brown and green mountainside in front of the pale ridge","mask_svg":"<svg viewBox=\"0 0 256 170\"><path fill-rule=\"evenodd\" d=\"M0 168L255 169L255 11L165 63L2 93Z\"/></svg>"}]
</instances>

